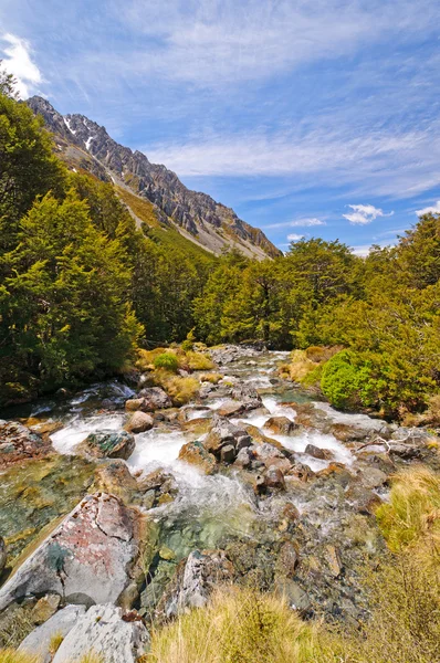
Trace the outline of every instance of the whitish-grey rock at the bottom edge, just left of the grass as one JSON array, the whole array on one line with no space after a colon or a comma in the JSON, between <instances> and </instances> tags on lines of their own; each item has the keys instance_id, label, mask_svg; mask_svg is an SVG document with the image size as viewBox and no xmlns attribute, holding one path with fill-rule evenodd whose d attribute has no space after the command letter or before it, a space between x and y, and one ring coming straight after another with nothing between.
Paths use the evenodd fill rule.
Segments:
<instances>
[{"instance_id":1,"label":"whitish-grey rock at the bottom edge, just left of the grass","mask_svg":"<svg viewBox=\"0 0 440 663\"><path fill-rule=\"evenodd\" d=\"M148 645L148 631L136 613L123 615L112 604L92 606L64 638L53 663L81 661L91 652L105 663L136 663Z\"/></svg>"}]
</instances>

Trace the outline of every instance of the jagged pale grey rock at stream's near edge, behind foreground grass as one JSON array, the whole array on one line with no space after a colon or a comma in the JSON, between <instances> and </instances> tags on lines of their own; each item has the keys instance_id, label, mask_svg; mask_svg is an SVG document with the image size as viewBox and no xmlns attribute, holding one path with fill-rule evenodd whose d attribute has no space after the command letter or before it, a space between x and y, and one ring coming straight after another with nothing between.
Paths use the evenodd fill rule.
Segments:
<instances>
[{"instance_id":1,"label":"jagged pale grey rock at stream's near edge, behind foreground grass","mask_svg":"<svg viewBox=\"0 0 440 663\"><path fill-rule=\"evenodd\" d=\"M223 550L193 550L179 565L157 612L169 619L188 608L202 608L217 585L231 582L233 578L233 566Z\"/></svg>"}]
</instances>

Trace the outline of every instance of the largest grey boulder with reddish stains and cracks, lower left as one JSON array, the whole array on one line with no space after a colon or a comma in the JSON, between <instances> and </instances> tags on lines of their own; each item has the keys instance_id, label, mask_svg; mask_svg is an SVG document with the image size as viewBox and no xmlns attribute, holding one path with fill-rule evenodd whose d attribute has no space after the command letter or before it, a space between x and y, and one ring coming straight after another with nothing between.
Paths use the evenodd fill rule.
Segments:
<instances>
[{"instance_id":1,"label":"largest grey boulder with reddish stains and cracks, lower left","mask_svg":"<svg viewBox=\"0 0 440 663\"><path fill-rule=\"evenodd\" d=\"M115 496L85 497L0 588L0 611L24 596L116 602L138 555L135 513Z\"/></svg>"}]
</instances>

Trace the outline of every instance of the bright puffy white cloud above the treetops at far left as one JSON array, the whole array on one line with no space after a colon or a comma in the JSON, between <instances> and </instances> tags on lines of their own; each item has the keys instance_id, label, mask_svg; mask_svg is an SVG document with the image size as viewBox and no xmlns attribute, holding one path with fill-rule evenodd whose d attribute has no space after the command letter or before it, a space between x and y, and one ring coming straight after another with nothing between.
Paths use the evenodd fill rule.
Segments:
<instances>
[{"instance_id":1,"label":"bright puffy white cloud above the treetops at far left","mask_svg":"<svg viewBox=\"0 0 440 663\"><path fill-rule=\"evenodd\" d=\"M15 76L18 93L25 99L30 96L30 90L43 80L39 67L31 60L31 46L24 39L14 34L7 33L1 39L10 44L3 49L6 57L2 66Z\"/></svg>"}]
</instances>

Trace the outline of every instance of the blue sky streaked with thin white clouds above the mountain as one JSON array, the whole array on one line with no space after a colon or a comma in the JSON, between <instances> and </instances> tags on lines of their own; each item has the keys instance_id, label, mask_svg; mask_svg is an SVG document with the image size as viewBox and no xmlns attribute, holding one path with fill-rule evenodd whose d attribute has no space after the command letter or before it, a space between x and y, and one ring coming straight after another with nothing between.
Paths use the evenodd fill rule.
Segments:
<instances>
[{"instance_id":1,"label":"blue sky streaked with thin white clouds above the mountain","mask_svg":"<svg viewBox=\"0 0 440 663\"><path fill-rule=\"evenodd\" d=\"M232 207L280 249L365 255L440 212L438 0L0 0L40 94Z\"/></svg>"}]
</instances>

